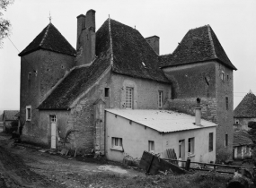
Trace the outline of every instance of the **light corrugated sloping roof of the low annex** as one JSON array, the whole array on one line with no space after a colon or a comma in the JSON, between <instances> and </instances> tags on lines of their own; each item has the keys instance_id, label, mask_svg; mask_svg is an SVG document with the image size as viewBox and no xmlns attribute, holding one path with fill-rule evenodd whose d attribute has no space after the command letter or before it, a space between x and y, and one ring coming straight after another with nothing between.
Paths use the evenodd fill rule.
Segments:
<instances>
[{"instance_id":1,"label":"light corrugated sloping roof of the low annex","mask_svg":"<svg viewBox=\"0 0 256 188\"><path fill-rule=\"evenodd\" d=\"M201 120L201 125L195 125L195 116L167 110L128 110L106 109L106 111L127 118L138 124L143 124L158 132L180 132L216 126L217 124Z\"/></svg>"}]
</instances>

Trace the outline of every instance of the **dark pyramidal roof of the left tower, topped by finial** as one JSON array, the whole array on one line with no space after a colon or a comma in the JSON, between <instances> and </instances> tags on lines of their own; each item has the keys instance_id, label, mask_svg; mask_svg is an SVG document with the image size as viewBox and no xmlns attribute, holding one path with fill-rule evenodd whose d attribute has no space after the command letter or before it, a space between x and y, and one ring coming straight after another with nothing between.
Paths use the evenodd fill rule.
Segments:
<instances>
[{"instance_id":1,"label":"dark pyramidal roof of the left tower, topped by finial","mask_svg":"<svg viewBox=\"0 0 256 188\"><path fill-rule=\"evenodd\" d=\"M74 47L68 43L66 38L61 35L52 23L49 23L49 25L33 39L29 46L22 50L19 56L25 56L38 49L47 49L57 53L75 56Z\"/></svg>"}]
</instances>

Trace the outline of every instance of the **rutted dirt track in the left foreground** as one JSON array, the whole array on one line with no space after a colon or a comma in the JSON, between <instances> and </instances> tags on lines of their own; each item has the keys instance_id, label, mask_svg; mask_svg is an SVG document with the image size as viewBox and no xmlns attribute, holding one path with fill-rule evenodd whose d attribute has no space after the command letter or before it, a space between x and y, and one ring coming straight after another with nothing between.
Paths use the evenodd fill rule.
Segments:
<instances>
[{"instance_id":1,"label":"rutted dirt track in the left foreground","mask_svg":"<svg viewBox=\"0 0 256 188\"><path fill-rule=\"evenodd\" d=\"M106 161L91 163L68 160L43 153L40 149L13 144L10 136L0 133L0 187L90 187L92 175L143 175ZM88 160L89 158L84 158Z\"/></svg>"}]
</instances>

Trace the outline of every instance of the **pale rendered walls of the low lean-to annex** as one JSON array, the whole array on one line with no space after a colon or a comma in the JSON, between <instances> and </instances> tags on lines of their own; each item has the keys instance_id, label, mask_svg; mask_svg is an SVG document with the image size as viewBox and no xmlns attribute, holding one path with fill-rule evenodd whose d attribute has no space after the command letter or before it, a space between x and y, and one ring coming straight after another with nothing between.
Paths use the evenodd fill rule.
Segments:
<instances>
[{"instance_id":1,"label":"pale rendered walls of the low lean-to annex","mask_svg":"<svg viewBox=\"0 0 256 188\"><path fill-rule=\"evenodd\" d=\"M208 152L208 134L214 133L214 149ZM111 138L122 138L123 149L112 149ZM216 127L161 133L144 125L132 122L119 115L106 112L106 156L110 160L122 161L125 155L141 158L143 151L148 150L148 141L154 141L154 153L160 153L161 158L167 158L166 150L174 149L178 157L179 141L185 140L185 158L188 158L188 139L195 138L195 155L191 161L210 162L216 160Z\"/></svg>"}]
</instances>

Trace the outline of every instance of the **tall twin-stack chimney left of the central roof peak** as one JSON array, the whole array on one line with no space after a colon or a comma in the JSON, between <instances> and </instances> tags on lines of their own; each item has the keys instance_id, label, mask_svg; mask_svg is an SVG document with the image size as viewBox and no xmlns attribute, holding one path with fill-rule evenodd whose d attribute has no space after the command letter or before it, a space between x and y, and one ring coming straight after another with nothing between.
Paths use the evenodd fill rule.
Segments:
<instances>
[{"instance_id":1,"label":"tall twin-stack chimney left of the central roof peak","mask_svg":"<svg viewBox=\"0 0 256 188\"><path fill-rule=\"evenodd\" d=\"M77 16L76 65L90 64L95 58L95 11Z\"/></svg>"}]
</instances>

